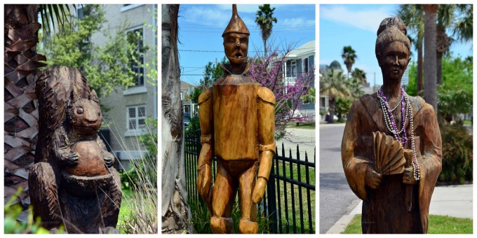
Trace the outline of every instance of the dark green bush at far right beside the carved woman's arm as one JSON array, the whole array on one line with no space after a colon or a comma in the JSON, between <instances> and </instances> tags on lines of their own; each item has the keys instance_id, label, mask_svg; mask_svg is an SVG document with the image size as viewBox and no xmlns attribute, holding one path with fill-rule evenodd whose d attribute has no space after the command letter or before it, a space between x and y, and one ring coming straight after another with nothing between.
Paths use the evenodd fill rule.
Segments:
<instances>
[{"instance_id":1,"label":"dark green bush at far right beside the carved woman's arm","mask_svg":"<svg viewBox=\"0 0 477 238\"><path fill-rule=\"evenodd\" d=\"M442 172L439 181L464 183L472 181L472 136L461 123L441 123Z\"/></svg>"}]
</instances>

